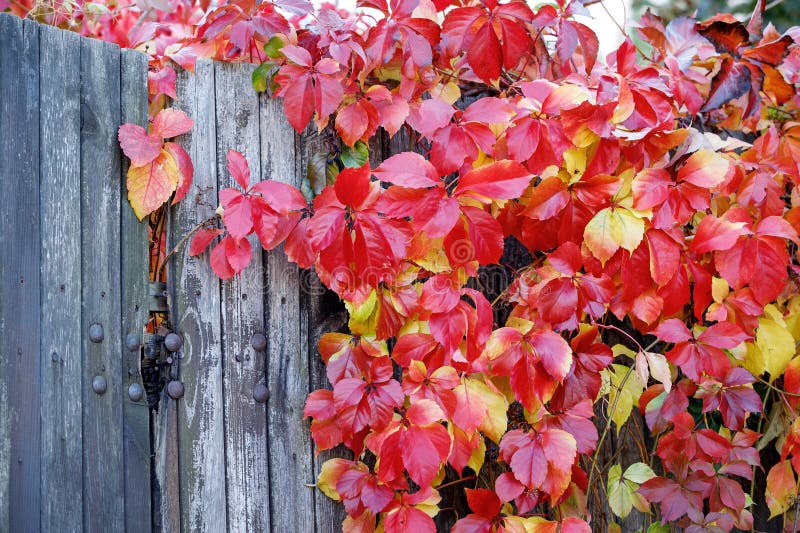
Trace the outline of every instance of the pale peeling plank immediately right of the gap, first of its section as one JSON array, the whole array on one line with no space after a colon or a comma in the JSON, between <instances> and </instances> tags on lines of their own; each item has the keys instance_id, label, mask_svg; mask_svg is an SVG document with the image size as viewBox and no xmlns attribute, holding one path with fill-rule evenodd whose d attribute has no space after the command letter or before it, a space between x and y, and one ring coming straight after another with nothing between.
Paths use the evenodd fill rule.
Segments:
<instances>
[{"instance_id":1,"label":"pale peeling plank immediately right of the gap, first of its section","mask_svg":"<svg viewBox=\"0 0 800 533\"><path fill-rule=\"evenodd\" d=\"M176 107L195 119L179 139L194 162L194 182L186 200L173 210L171 244L214 215L217 203L217 147L214 64L200 60L195 72L178 77ZM225 430L222 396L222 332L219 279L208 256L189 257L188 247L170 265L172 319L183 335L180 378L185 394L178 402L180 485L183 528L224 531Z\"/></svg>"}]
</instances>

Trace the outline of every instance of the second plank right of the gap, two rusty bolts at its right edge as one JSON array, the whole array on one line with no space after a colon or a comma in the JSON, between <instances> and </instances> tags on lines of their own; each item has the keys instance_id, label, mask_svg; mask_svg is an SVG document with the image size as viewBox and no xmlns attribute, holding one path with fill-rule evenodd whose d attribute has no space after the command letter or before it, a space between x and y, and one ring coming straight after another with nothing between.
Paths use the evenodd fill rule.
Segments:
<instances>
[{"instance_id":1,"label":"second plank right of the gap, two rusty bolts at its right edge","mask_svg":"<svg viewBox=\"0 0 800 533\"><path fill-rule=\"evenodd\" d=\"M261 175L258 95L247 85L250 65L216 65L217 168L220 189L238 187L226 168L228 149L242 152L253 181ZM263 252L255 239L253 260L242 274L222 284L222 353L225 391L225 454L230 531L270 528L267 417L253 400L265 377L264 353L250 344L264 332ZM256 496L256 495L261 495ZM280 524L276 524L280 526Z\"/></svg>"}]
</instances>

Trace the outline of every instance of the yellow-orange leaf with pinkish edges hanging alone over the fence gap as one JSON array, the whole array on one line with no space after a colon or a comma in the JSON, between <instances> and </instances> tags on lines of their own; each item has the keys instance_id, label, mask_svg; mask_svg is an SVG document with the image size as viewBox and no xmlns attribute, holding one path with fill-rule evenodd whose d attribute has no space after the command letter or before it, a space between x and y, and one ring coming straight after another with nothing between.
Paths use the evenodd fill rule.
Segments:
<instances>
[{"instance_id":1,"label":"yellow-orange leaf with pinkish edges hanging alone over the fence gap","mask_svg":"<svg viewBox=\"0 0 800 533\"><path fill-rule=\"evenodd\" d=\"M128 169L128 201L136 217L144 217L164 205L178 188L180 172L178 163L167 150L162 149L153 161Z\"/></svg>"}]
</instances>

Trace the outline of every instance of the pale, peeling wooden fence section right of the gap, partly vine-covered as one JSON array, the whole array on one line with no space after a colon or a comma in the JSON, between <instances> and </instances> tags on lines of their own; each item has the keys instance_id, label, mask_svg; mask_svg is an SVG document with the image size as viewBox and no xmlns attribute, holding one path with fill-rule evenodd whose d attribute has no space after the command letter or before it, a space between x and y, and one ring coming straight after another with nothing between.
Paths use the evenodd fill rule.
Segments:
<instances>
[{"instance_id":1,"label":"pale, peeling wooden fence section right of the gap, partly vine-covered","mask_svg":"<svg viewBox=\"0 0 800 533\"><path fill-rule=\"evenodd\" d=\"M195 178L172 212L170 247L214 213L219 189L237 186L226 168L230 148L247 157L253 181L299 185L319 144L313 133L295 134L279 101L252 90L252 69L200 60L193 74L179 74L175 106L195 119L179 142ZM220 282L205 254L182 253L171 265L170 310L184 339L173 372L185 395L166 402L155 424L165 530L341 527L341 506L308 486L327 455L315 457L302 412L308 392L326 383L316 340L344 322L325 309L312 275L281 250L253 245L251 265L232 281ZM259 385L264 403L254 399Z\"/></svg>"}]
</instances>

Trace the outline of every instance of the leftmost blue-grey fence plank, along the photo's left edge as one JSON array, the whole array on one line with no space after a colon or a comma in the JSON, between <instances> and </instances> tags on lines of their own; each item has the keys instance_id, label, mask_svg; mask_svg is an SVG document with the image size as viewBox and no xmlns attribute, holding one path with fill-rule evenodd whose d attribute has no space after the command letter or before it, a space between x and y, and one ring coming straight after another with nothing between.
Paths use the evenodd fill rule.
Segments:
<instances>
[{"instance_id":1,"label":"leftmost blue-grey fence plank, along the photo's left edge","mask_svg":"<svg viewBox=\"0 0 800 533\"><path fill-rule=\"evenodd\" d=\"M0 529L40 529L39 33L0 16L0 188L4 361ZM11 230L13 228L13 230Z\"/></svg>"}]
</instances>

